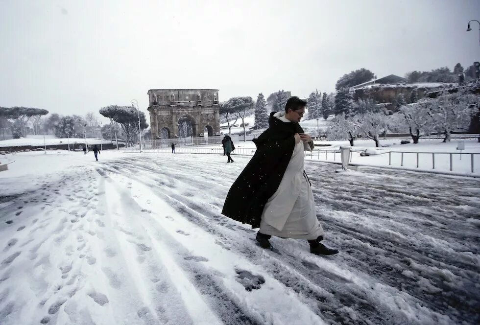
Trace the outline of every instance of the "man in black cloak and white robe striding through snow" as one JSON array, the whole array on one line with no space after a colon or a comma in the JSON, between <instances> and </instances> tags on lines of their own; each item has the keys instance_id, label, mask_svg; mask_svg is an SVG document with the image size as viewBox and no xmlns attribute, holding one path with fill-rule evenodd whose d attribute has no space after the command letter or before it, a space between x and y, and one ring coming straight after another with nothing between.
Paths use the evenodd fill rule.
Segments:
<instances>
[{"instance_id":1,"label":"man in black cloak and white robe striding through snow","mask_svg":"<svg viewBox=\"0 0 480 325\"><path fill-rule=\"evenodd\" d=\"M272 112L269 128L253 139L257 152L230 188L222 214L260 228L257 241L270 248L271 236L307 239L313 254L338 251L321 243L325 232L316 217L310 181L305 173L305 150L313 140L300 119L307 102L294 96L285 112Z\"/></svg>"}]
</instances>

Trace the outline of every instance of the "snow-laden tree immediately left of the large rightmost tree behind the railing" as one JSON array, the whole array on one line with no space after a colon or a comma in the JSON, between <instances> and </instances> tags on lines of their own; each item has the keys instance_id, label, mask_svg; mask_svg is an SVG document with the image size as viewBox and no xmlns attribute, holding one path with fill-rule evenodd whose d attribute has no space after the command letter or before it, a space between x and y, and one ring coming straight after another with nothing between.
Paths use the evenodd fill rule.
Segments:
<instances>
[{"instance_id":1,"label":"snow-laden tree immediately left of the large rightmost tree behind the railing","mask_svg":"<svg viewBox=\"0 0 480 325\"><path fill-rule=\"evenodd\" d=\"M400 120L408 129L413 143L418 143L420 137L429 135L432 131L432 117L429 114L431 109L432 100L422 99L401 107L397 113L403 117Z\"/></svg>"}]
</instances>

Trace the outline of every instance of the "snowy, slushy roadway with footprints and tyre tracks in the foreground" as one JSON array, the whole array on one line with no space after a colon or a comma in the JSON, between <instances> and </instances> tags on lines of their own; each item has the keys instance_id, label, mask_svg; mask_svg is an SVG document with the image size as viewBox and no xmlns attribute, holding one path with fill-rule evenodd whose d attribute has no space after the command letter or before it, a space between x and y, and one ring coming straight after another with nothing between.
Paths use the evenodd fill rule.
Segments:
<instances>
[{"instance_id":1,"label":"snowy, slushy roadway with footprints and tyre tracks in the foreground","mask_svg":"<svg viewBox=\"0 0 480 325\"><path fill-rule=\"evenodd\" d=\"M323 257L301 240L263 250L221 215L249 157L14 158L0 172L2 325L480 321L478 179L307 161L340 250Z\"/></svg>"}]
</instances>

